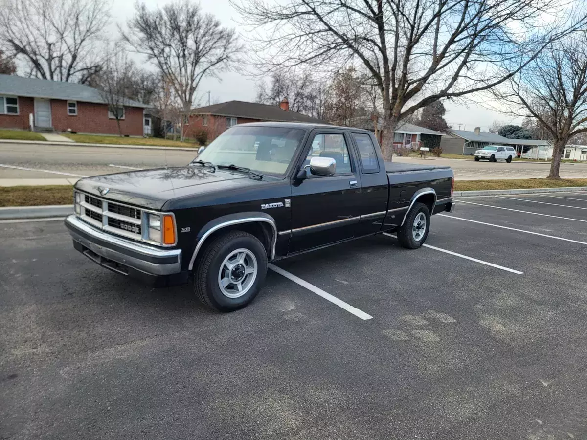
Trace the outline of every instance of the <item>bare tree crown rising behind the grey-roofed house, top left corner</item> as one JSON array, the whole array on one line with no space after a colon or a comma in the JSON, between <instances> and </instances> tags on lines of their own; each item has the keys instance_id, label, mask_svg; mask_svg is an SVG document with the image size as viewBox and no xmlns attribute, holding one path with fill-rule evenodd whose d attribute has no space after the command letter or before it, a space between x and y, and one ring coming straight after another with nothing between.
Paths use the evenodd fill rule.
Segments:
<instances>
[{"instance_id":1,"label":"bare tree crown rising behind the grey-roofed house, top left corner","mask_svg":"<svg viewBox=\"0 0 587 440\"><path fill-rule=\"evenodd\" d=\"M29 76L87 83L102 69L109 9L104 0L6 0L0 42L26 63Z\"/></svg>"}]
</instances>

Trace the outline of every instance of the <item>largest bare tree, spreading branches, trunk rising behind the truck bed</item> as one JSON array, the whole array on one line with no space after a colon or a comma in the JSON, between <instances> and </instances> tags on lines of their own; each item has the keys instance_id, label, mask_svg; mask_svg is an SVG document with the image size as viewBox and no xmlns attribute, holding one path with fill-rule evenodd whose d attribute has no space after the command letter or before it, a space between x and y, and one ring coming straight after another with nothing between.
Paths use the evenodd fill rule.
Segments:
<instances>
[{"instance_id":1,"label":"largest bare tree, spreading branches, trunk rising behind the truck bed","mask_svg":"<svg viewBox=\"0 0 587 440\"><path fill-rule=\"evenodd\" d=\"M251 33L259 67L362 63L382 95L388 160L399 120L439 99L491 89L568 32L560 22L542 24L561 0L240 1L242 21L267 31Z\"/></svg>"}]
</instances>

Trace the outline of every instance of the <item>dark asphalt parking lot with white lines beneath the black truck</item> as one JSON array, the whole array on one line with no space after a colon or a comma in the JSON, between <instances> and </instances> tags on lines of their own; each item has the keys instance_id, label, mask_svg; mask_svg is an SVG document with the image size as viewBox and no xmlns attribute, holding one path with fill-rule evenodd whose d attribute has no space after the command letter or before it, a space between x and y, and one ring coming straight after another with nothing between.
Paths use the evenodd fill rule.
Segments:
<instances>
[{"instance_id":1,"label":"dark asphalt parking lot with white lines beneath the black truck","mask_svg":"<svg viewBox=\"0 0 587 440\"><path fill-rule=\"evenodd\" d=\"M284 260L309 289L270 270L231 314L99 268L59 221L0 242L2 439L587 436L587 192L460 199L427 247Z\"/></svg>"}]
</instances>

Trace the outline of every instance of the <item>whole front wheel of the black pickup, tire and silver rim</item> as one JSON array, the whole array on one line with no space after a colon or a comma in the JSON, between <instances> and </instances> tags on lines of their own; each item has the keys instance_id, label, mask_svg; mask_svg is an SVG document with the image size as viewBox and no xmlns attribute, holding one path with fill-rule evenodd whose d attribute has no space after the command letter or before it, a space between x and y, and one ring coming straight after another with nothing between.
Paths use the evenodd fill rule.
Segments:
<instances>
[{"instance_id":1,"label":"whole front wheel of the black pickup, tire and silver rim","mask_svg":"<svg viewBox=\"0 0 587 440\"><path fill-rule=\"evenodd\" d=\"M194 292L211 309L241 309L255 299L265 283L267 254L250 233L227 232L212 241L202 255L194 273Z\"/></svg>"}]
</instances>

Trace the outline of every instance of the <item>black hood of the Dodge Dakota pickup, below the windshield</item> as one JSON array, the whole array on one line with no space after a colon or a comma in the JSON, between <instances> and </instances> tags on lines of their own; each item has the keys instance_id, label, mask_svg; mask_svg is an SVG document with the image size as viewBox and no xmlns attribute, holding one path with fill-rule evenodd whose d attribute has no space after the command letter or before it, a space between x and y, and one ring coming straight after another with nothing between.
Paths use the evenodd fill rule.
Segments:
<instances>
[{"instance_id":1,"label":"black hood of the Dodge Dakota pickup, below the windshield","mask_svg":"<svg viewBox=\"0 0 587 440\"><path fill-rule=\"evenodd\" d=\"M75 188L97 197L150 209L161 209L174 198L224 192L235 187L259 185L248 175L205 167L156 168L88 177ZM106 194L103 192L108 189Z\"/></svg>"}]
</instances>

